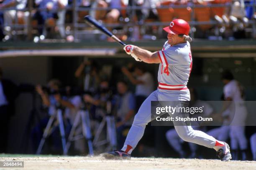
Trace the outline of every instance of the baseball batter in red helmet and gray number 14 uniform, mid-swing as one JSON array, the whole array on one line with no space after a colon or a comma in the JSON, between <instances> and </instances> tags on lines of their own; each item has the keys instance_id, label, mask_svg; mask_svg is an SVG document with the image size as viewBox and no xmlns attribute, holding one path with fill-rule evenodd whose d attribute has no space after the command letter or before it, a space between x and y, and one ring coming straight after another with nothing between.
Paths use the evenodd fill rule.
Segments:
<instances>
[{"instance_id":1,"label":"baseball batter in red helmet and gray number 14 uniform, mid-swing","mask_svg":"<svg viewBox=\"0 0 256 170\"><path fill-rule=\"evenodd\" d=\"M173 20L164 30L168 32L168 40L162 50L150 52L135 45L126 45L125 52L135 60L146 63L159 63L158 89L142 103L134 117L133 125L121 150L103 153L107 159L130 159L133 149L142 138L148 122L151 121L151 101L189 101L190 94L187 82L192 70L192 55L189 42L189 24L181 19ZM174 128L182 140L214 148L222 161L231 159L227 143L218 141L189 125L175 125Z\"/></svg>"}]
</instances>

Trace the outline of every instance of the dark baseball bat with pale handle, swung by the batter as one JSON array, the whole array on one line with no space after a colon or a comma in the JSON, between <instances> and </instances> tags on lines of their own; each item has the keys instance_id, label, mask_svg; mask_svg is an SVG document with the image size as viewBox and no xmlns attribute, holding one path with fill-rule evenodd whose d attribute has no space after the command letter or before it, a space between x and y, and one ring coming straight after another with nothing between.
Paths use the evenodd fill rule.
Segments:
<instances>
[{"instance_id":1,"label":"dark baseball bat with pale handle, swung by the batter","mask_svg":"<svg viewBox=\"0 0 256 170\"><path fill-rule=\"evenodd\" d=\"M84 17L84 20L87 21L87 23L89 23L90 26L95 26L97 29L99 29L100 31L102 31L104 34L108 35L109 37L111 37L113 40L115 40L116 42L118 42L119 44L125 46L126 44L121 41L118 37L116 37L115 35L112 34L112 32L110 32L107 28L105 28L101 23L99 23L97 20L95 20L94 18L92 18L90 15L86 15Z\"/></svg>"}]
</instances>

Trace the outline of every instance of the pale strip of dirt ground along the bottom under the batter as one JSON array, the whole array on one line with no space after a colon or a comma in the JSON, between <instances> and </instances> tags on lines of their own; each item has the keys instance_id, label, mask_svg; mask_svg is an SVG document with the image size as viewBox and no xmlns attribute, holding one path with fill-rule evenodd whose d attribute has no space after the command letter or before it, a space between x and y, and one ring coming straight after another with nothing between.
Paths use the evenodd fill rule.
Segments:
<instances>
[{"instance_id":1,"label":"pale strip of dirt ground along the bottom under the batter","mask_svg":"<svg viewBox=\"0 0 256 170\"><path fill-rule=\"evenodd\" d=\"M95 157L0 157L1 161L24 161L24 168L7 170L256 170L256 161L132 158L105 160ZM3 169L3 168L0 168Z\"/></svg>"}]
</instances>

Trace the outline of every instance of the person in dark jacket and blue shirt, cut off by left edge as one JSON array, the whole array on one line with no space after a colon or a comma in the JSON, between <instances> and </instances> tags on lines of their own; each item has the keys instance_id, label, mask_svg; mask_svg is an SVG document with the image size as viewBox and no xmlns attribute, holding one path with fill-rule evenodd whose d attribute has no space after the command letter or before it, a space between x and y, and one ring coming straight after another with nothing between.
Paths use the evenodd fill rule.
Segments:
<instances>
[{"instance_id":1,"label":"person in dark jacket and blue shirt, cut off by left edge","mask_svg":"<svg viewBox=\"0 0 256 170\"><path fill-rule=\"evenodd\" d=\"M3 78L0 67L0 153L6 153L10 117L15 113L15 98L18 95L17 86L10 80Z\"/></svg>"}]
</instances>

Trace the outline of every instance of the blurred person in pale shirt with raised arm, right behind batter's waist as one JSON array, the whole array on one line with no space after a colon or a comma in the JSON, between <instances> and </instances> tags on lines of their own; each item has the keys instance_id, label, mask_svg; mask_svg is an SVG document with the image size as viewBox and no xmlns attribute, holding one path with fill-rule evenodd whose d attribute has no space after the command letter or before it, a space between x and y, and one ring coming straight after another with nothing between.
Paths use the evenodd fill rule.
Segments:
<instances>
[{"instance_id":1,"label":"blurred person in pale shirt with raised arm, right behind batter's waist","mask_svg":"<svg viewBox=\"0 0 256 170\"><path fill-rule=\"evenodd\" d=\"M135 65L134 75L126 67L122 67L122 72L133 85L136 85L135 96L137 112L143 101L154 91L153 77L141 64Z\"/></svg>"}]
</instances>

